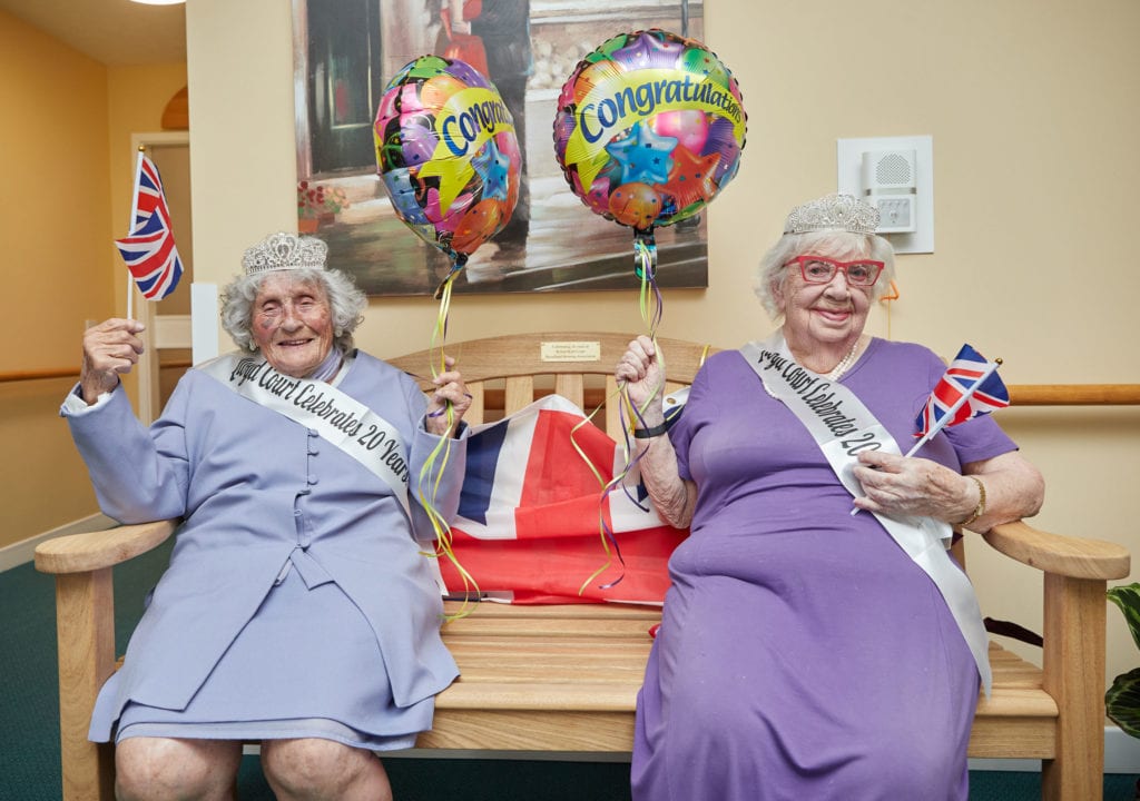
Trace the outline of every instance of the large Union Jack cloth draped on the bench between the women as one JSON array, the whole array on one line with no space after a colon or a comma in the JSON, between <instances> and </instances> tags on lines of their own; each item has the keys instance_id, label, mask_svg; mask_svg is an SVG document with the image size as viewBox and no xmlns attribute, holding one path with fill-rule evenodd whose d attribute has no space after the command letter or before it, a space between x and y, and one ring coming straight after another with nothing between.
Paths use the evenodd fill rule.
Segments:
<instances>
[{"instance_id":1,"label":"large Union Jack cloth draped on the bench between the women","mask_svg":"<svg viewBox=\"0 0 1140 801\"><path fill-rule=\"evenodd\" d=\"M451 547L480 595L515 604L661 604L669 556L689 532L658 516L636 473L626 476L633 497L618 488L603 498L602 482L625 461L617 443L559 395L475 426ZM440 570L449 591L464 591L449 559Z\"/></svg>"}]
</instances>

